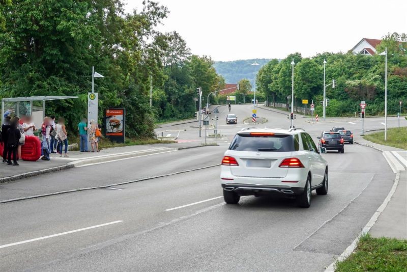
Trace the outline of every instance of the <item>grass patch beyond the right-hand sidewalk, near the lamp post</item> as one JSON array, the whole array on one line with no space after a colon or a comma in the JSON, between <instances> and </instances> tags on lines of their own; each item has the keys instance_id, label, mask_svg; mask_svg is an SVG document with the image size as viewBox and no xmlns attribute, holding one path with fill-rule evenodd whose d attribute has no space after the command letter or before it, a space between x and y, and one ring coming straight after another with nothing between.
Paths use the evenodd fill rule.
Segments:
<instances>
[{"instance_id":1,"label":"grass patch beyond the right-hand sidewalk, near the lamp post","mask_svg":"<svg viewBox=\"0 0 407 272\"><path fill-rule=\"evenodd\" d=\"M396 127L387 129L387 141L385 142L385 132L375 132L364 135L363 138L367 141L392 146L402 149L407 149L407 127Z\"/></svg>"}]
</instances>

